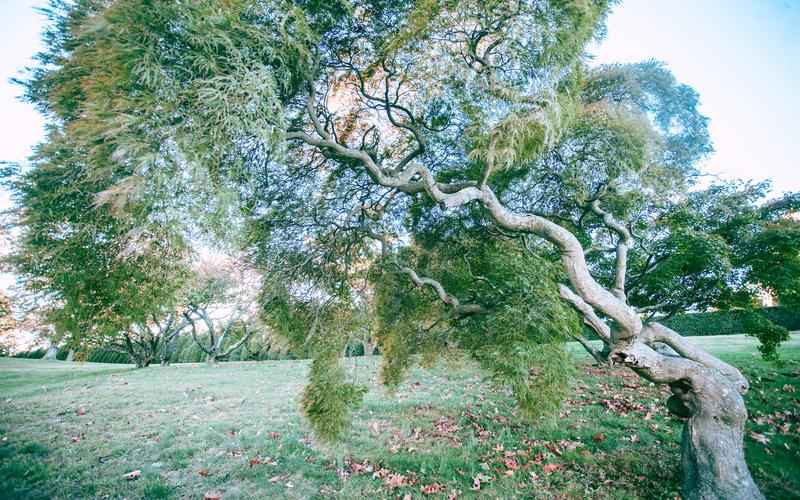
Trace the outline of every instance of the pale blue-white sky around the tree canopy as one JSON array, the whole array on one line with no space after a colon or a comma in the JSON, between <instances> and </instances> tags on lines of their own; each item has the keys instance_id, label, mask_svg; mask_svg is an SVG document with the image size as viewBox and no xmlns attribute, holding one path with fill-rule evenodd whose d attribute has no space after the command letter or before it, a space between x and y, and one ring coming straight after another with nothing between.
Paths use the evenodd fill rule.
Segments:
<instances>
[{"instance_id":1,"label":"pale blue-white sky around the tree canopy","mask_svg":"<svg viewBox=\"0 0 800 500\"><path fill-rule=\"evenodd\" d=\"M41 46L45 0L0 0L0 160L23 161L42 119L8 79ZM716 152L704 171L771 178L800 191L800 0L628 0L617 6L597 61L667 63L700 93ZM0 190L0 209L10 206ZM0 276L0 288L10 278Z\"/></svg>"}]
</instances>

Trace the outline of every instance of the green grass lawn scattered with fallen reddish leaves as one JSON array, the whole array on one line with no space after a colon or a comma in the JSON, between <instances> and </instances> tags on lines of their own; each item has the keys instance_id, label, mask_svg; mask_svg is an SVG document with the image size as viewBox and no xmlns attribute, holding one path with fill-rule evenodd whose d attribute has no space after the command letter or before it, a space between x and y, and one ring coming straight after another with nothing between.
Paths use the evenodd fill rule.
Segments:
<instances>
[{"instance_id":1,"label":"green grass lawn scattered with fallen reddish leaves","mask_svg":"<svg viewBox=\"0 0 800 500\"><path fill-rule=\"evenodd\" d=\"M800 498L800 334L782 366L746 337L693 340L751 381L747 456L764 493ZM0 498L675 498L682 423L668 389L576 358L573 395L533 423L469 364L414 370L389 397L377 358L347 359L370 391L332 447L297 411L305 361L3 358Z\"/></svg>"}]
</instances>

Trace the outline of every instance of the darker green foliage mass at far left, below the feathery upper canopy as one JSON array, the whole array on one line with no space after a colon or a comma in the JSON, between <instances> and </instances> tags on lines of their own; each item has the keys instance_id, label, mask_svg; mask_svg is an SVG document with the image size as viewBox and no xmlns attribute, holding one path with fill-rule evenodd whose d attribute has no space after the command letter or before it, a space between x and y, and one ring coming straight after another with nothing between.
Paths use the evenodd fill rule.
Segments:
<instances>
[{"instance_id":1,"label":"darker green foliage mass at far left, below the feathery upper canopy","mask_svg":"<svg viewBox=\"0 0 800 500\"><path fill-rule=\"evenodd\" d=\"M57 304L48 320L77 344L115 335L169 304L185 269L179 236L97 205L110 181L93 177L74 147L51 134L33 168L10 181L26 216L8 261L31 292Z\"/></svg>"}]
</instances>

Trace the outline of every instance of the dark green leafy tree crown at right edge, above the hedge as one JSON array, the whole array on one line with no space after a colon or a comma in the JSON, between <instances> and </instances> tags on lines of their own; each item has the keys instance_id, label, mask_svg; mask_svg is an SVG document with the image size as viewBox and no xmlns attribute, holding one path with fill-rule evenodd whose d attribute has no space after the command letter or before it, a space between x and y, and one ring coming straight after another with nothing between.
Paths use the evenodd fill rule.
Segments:
<instances>
[{"instance_id":1,"label":"dark green leafy tree crown at right edge, above the hedge","mask_svg":"<svg viewBox=\"0 0 800 500\"><path fill-rule=\"evenodd\" d=\"M667 314L749 309L768 292L795 307L800 223L787 217L791 198L761 201L767 189L715 184L667 204L652 224L641 226L642 242L631 252L630 302Z\"/></svg>"}]
</instances>

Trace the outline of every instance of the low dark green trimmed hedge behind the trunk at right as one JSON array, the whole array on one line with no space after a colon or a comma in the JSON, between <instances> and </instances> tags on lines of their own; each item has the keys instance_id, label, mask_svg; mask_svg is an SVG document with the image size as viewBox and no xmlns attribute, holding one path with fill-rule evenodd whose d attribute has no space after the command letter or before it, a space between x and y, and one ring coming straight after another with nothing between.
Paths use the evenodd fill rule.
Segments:
<instances>
[{"instance_id":1,"label":"low dark green trimmed hedge behind the trunk at right","mask_svg":"<svg viewBox=\"0 0 800 500\"><path fill-rule=\"evenodd\" d=\"M786 307L767 307L758 310L773 323L789 331L800 330L800 310ZM735 335L744 333L744 311L714 311L678 314L663 323L687 337Z\"/></svg>"}]
</instances>

